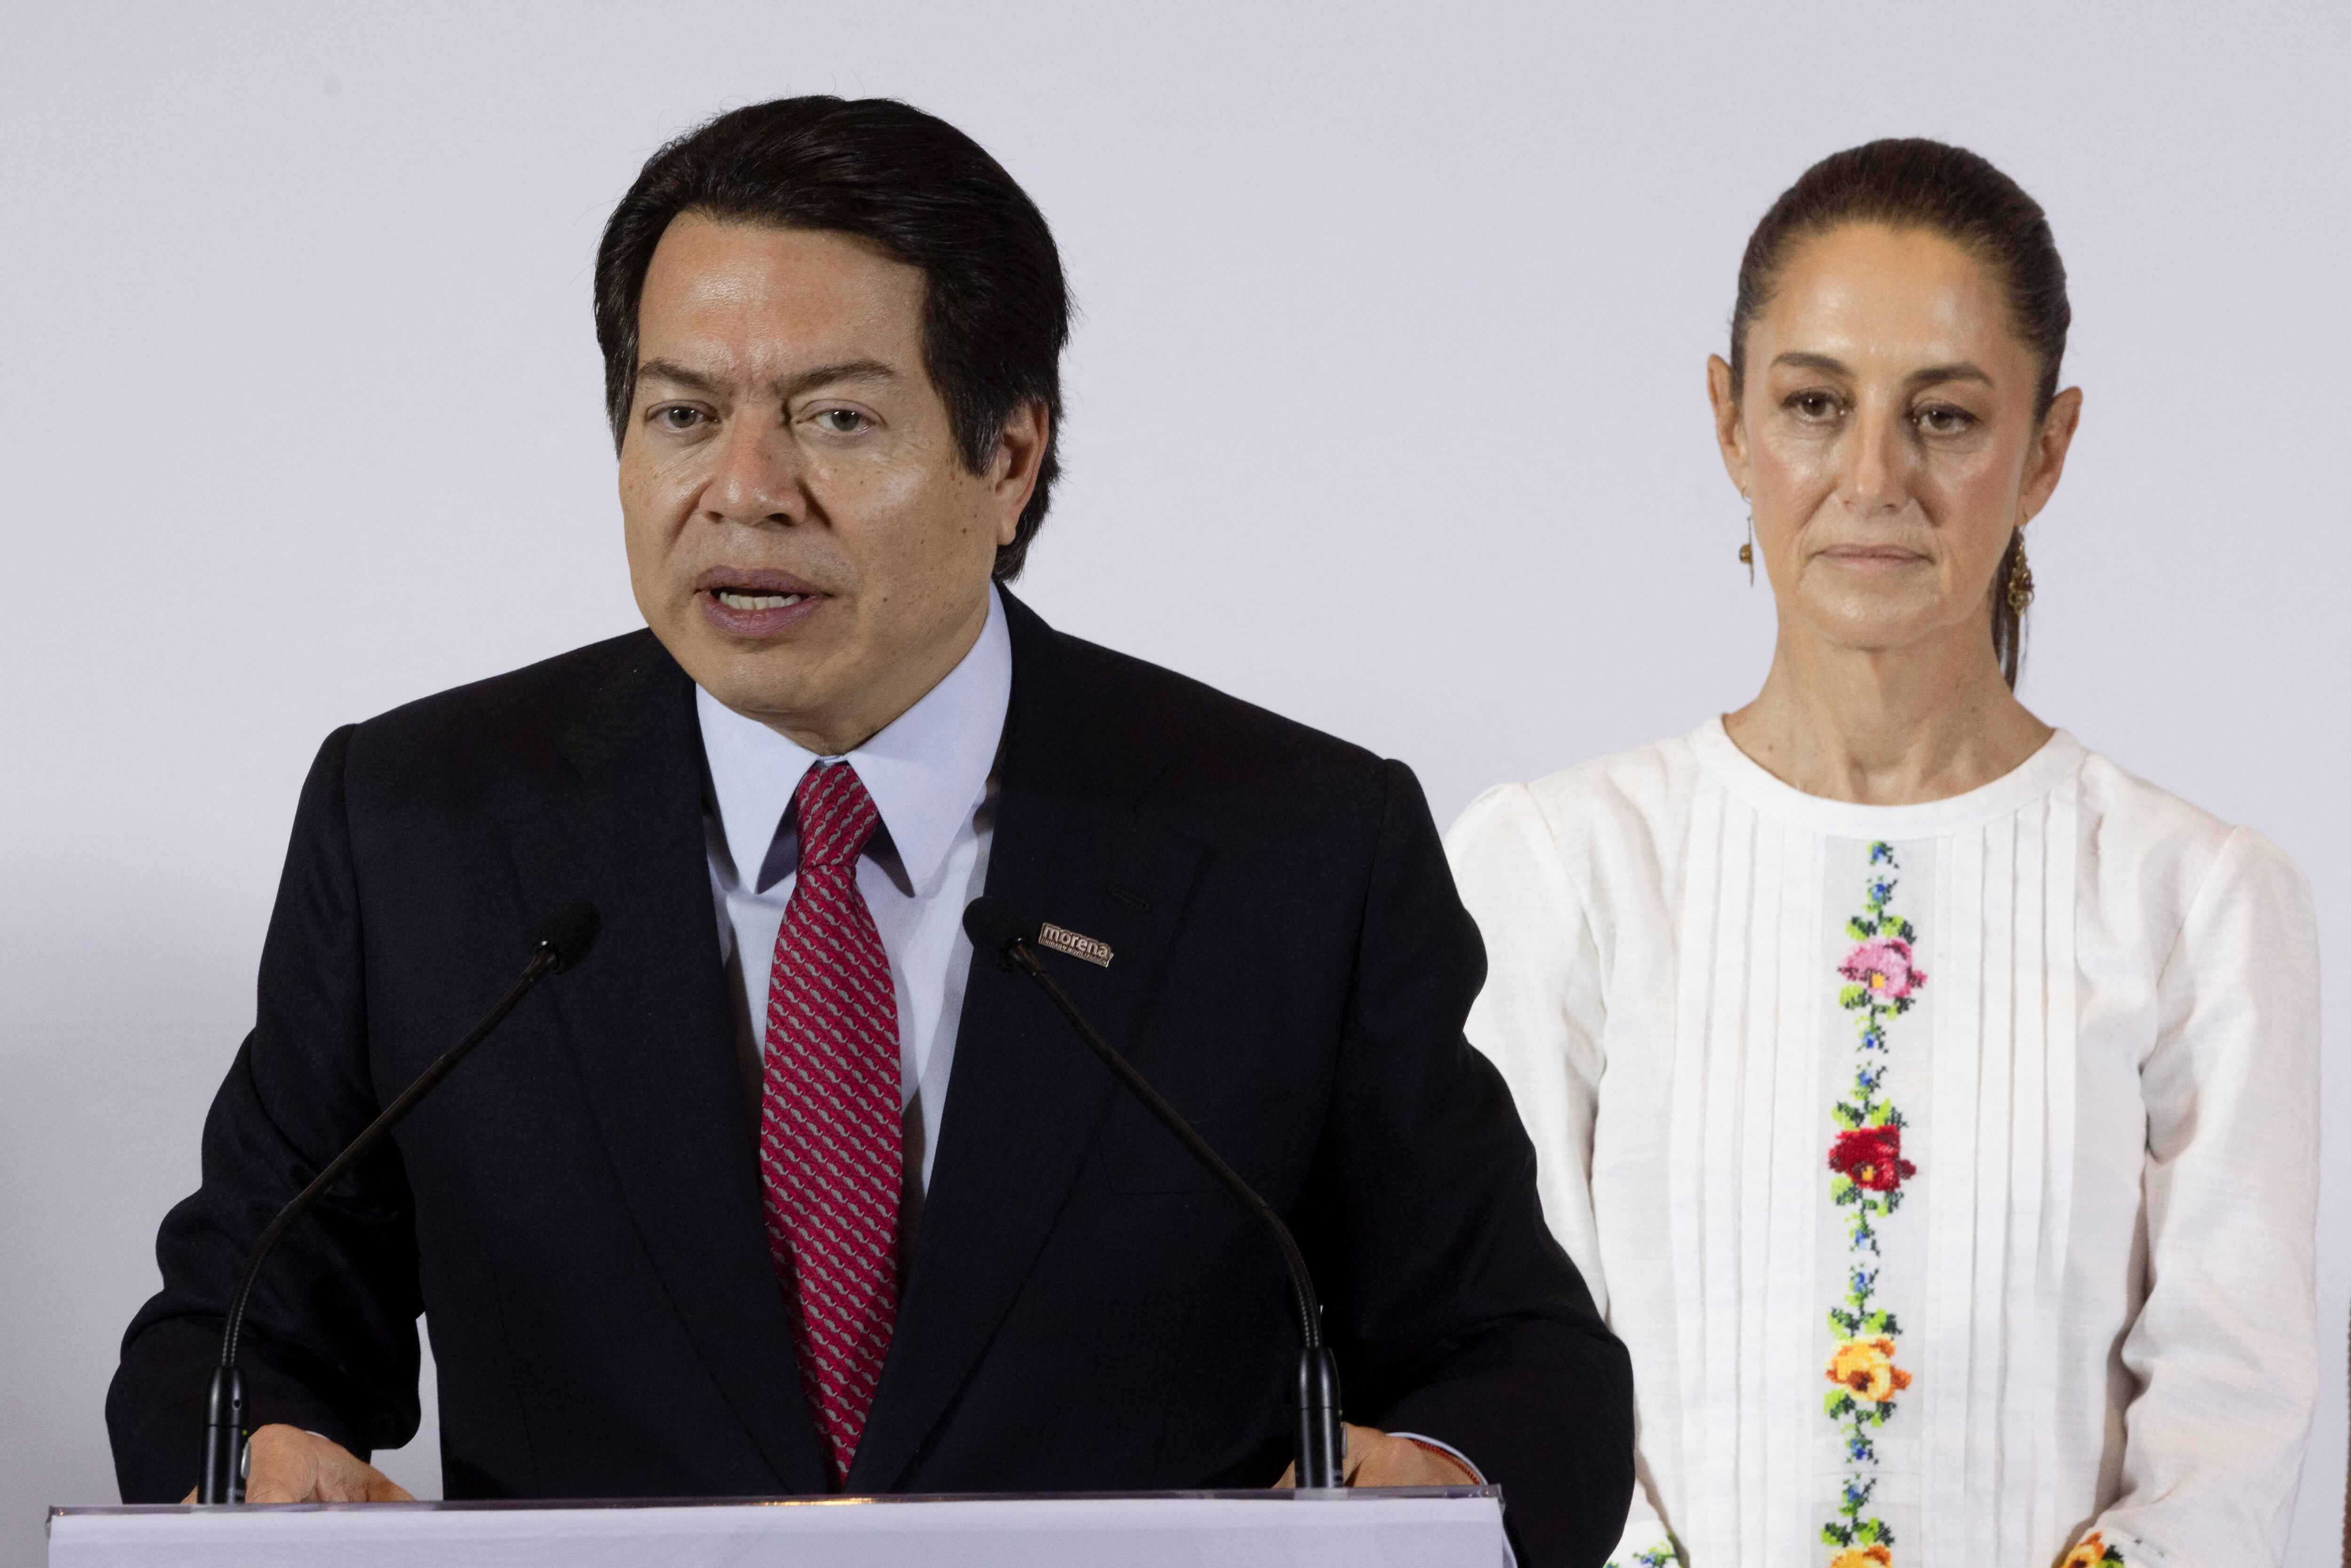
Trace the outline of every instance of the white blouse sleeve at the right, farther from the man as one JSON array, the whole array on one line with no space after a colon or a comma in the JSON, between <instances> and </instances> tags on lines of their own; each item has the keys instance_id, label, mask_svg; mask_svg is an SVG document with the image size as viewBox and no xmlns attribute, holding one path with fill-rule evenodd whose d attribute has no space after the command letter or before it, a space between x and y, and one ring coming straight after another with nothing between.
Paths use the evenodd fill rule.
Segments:
<instances>
[{"instance_id":1,"label":"white blouse sleeve at the right, farther from the man","mask_svg":"<svg viewBox=\"0 0 2351 1568\"><path fill-rule=\"evenodd\" d=\"M2156 1006L2139 1396L2123 1495L2074 1556L2278 1563L2318 1387L2318 922L2262 835L2229 835Z\"/></svg>"}]
</instances>

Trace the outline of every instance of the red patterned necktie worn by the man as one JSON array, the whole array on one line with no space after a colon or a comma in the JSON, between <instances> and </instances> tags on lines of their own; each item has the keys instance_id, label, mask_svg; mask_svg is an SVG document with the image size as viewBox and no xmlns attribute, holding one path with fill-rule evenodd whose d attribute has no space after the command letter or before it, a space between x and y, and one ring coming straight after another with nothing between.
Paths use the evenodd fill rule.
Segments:
<instances>
[{"instance_id":1,"label":"red patterned necktie worn by the man","mask_svg":"<svg viewBox=\"0 0 2351 1568\"><path fill-rule=\"evenodd\" d=\"M799 1385L839 1486L898 1319L898 994L858 893L882 820L865 783L846 762L818 764L795 802L799 882L766 983L759 1173Z\"/></svg>"}]
</instances>

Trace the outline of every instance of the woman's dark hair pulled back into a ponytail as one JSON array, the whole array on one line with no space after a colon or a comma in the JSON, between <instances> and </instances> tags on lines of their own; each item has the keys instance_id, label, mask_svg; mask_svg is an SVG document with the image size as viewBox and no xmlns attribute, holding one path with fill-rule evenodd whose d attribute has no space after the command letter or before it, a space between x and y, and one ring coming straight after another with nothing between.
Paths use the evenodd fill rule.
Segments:
<instances>
[{"instance_id":1,"label":"woman's dark hair pulled back into a ponytail","mask_svg":"<svg viewBox=\"0 0 2351 1568\"><path fill-rule=\"evenodd\" d=\"M2034 418L2057 400L2064 336L2074 306L2064 292L2064 261L2041 202L1989 160L1923 136L1869 141L1831 153L1780 193L1740 259L1740 294L1730 306L1730 395L1747 386L1747 329L1770 303L1789 252L1848 223L1923 228L1972 252L2008 292L2017 339L2041 362ZM2008 583L2024 552L2022 531L2008 541L1991 578L1991 646L2008 684L2017 684L2024 618L2008 602Z\"/></svg>"}]
</instances>

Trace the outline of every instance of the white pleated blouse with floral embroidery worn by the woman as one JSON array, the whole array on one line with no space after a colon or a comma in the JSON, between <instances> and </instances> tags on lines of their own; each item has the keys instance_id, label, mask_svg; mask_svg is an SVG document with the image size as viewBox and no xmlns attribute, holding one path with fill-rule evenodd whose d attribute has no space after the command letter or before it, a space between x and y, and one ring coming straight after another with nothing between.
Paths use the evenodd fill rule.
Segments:
<instances>
[{"instance_id":1,"label":"white pleated blouse with floral embroidery worn by the woman","mask_svg":"<svg viewBox=\"0 0 2351 1568\"><path fill-rule=\"evenodd\" d=\"M1632 1349L1617 1568L2283 1556L2318 938L2269 839L2067 733L1855 806L1712 722L1448 851L1469 1039Z\"/></svg>"}]
</instances>

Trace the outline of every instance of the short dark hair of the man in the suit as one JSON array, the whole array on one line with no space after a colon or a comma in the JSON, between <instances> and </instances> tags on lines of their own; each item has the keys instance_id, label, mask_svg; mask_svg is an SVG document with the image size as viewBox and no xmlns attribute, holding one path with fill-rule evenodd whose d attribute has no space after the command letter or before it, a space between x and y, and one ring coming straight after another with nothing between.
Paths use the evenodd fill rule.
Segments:
<instances>
[{"instance_id":1,"label":"short dark hair of the man in the suit","mask_svg":"<svg viewBox=\"0 0 2351 1568\"><path fill-rule=\"evenodd\" d=\"M1037 202L994 158L893 99L776 99L710 120L644 162L595 256L595 339L614 447L637 397L637 301L670 219L858 235L922 268L922 360L947 402L964 468L985 473L1004 423L1046 407L1037 489L997 581L1020 576L1060 475L1060 350L1070 287Z\"/></svg>"}]
</instances>

